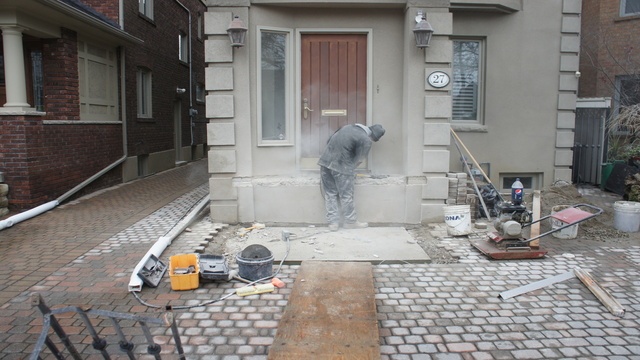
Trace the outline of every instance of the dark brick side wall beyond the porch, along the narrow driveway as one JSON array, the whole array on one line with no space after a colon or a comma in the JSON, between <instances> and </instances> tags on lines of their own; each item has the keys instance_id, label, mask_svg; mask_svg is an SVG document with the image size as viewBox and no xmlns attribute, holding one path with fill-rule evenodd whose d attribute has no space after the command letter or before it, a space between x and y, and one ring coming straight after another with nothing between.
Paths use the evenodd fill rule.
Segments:
<instances>
[{"instance_id":1,"label":"dark brick side wall beyond the porch, along the narrow driveway","mask_svg":"<svg viewBox=\"0 0 640 360\"><path fill-rule=\"evenodd\" d=\"M198 0L181 0L191 11L193 37L193 107L204 120L204 104L195 100L195 83L204 83L204 42L197 39L197 14L206 7ZM154 19L138 12L137 1L126 1L124 8L125 31L142 39L145 46L128 48L126 52L126 98L129 134L128 151L131 156L150 154L174 148L174 102L182 105L182 145L191 143L189 123L189 67L178 60L178 36L188 34L188 13L175 1L155 2ZM153 79L152 119L137 118L135 74L138 67L151 70ZM184 94L176 94L176 88ZM194 127L194 144L206 143L205 124Z\"/></svg>"}]
</instances>

